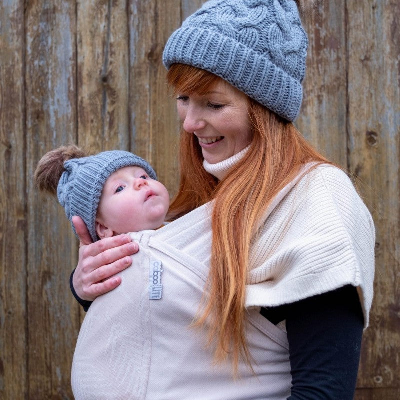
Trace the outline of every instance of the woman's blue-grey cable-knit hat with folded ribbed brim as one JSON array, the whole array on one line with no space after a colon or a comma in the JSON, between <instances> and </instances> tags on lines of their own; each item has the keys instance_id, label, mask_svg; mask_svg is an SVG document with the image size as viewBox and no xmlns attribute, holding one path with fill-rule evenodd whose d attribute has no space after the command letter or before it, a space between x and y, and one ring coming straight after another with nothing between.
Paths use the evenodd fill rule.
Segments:
<instances>
[{"instance_id":1,"label":"woman's blue-grey cable-knit hat with folded ribbed brim","mask_svg":"<svg viewBox=\"0 0 400 400\"><path fill-rule=\"evenodd\" d=\"M211 0L171 35L163 62L212 72L293 121L307 44L292 0Z\"/></svg>"}]
</instances>

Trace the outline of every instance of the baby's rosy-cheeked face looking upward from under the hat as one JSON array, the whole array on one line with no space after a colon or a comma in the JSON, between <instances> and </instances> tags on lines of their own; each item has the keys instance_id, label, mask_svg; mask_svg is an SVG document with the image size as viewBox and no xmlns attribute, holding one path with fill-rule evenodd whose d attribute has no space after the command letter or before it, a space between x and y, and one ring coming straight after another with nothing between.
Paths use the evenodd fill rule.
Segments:
<instances>
[{"instance_id":1,"label":"baby's rosy-cheeked face looking upward from under the hat","mask_svg":"<svg viewBox=\"0 0 400 400\"><path fill-rule=\"evenodd\" d=\"M151 179L144 169L127 166L106 180L96 221L111 229L113 235L156 229L165 220L168 208L165 186Z\"/></svg>"}]
</instances>

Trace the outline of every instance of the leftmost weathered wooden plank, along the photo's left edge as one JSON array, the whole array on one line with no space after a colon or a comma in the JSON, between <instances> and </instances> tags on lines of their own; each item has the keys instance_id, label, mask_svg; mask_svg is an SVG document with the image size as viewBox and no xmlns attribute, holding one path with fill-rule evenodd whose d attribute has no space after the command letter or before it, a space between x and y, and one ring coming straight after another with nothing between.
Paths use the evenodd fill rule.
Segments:
<instances>
[{"instance_id":1,"label":"leftmost weathered wooden plank, along the photo's left edge","mask_svg":"<svg viewBox=\"0 0 400 400\"><path fill-rule=\"evenodd\" d=\"M27 394L23 1L0 4L0 398Z\"/></svg>"}]
</instances>

